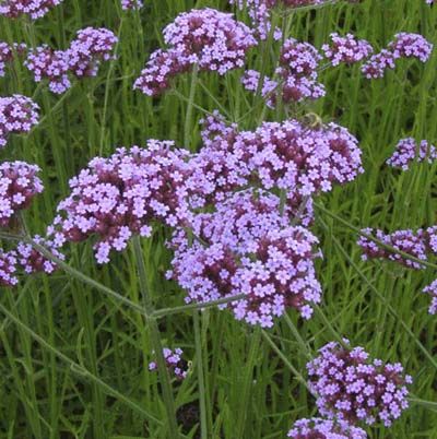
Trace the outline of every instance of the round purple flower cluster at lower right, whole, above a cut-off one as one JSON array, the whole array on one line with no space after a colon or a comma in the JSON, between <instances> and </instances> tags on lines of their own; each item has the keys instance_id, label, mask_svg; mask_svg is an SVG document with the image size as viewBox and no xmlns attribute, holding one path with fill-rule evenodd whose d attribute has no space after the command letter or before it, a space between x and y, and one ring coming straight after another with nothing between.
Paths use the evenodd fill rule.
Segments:
<instances>
[{"instance_id":1,"label":"round purple flower cluster at lower right, whole, above a cut-off one","mask_svg":"<svg viewBox=\"0 0 437 439\"><path fill-rule=\"evenodd\" d=\"M389 427L409 406L406 384L412 378L403 367L370 360L363 347L328 343L307 365L309 385L323 416Z\"/></svg>"}]
</instances>

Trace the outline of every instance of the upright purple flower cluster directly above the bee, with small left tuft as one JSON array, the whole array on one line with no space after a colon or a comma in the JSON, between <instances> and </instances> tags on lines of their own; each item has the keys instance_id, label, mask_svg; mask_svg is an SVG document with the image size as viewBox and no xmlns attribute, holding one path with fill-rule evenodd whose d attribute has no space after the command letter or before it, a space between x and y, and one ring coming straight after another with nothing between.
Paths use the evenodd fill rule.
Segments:
<instances>
[{"instance_id":1,"label":"upright purple flower cluster directly above the bee, with small left tuft","mask_svg":"<svg viewBox=\"0 0 437 439\"><path fill-rule=\"evenodd\" d=\"M308 43L298 43L294 38L285 40L280 56L280 66L275 70L277 80L265 76L261 86L261 96L273 108L279 99L285 104L304 99L318 99L324 96L324 87L317 82L317 67L321 60L317 49ZM257 92L261 75L248 70L241 78L246 90Z\"/></svg>"}]
</instances>

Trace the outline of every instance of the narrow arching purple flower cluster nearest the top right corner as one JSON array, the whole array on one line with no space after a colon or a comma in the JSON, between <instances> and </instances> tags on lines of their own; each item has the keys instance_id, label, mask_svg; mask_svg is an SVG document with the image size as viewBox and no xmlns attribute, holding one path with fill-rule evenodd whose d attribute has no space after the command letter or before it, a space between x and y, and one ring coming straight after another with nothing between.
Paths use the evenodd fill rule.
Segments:
<instances>
[{"instance_id":1,"label":"narrow arching purple flower cluster nearest the top right corner","mask_svg":"<svg viewBox=\"0 0 437 439\"><path fill-rule=\"evenodd\" d=\"M394 35L387 49L374 55L363 64L362 71L367 79L382 78L387 69L394 69L395 61L400 58L417 58L426 62L433 51L433 44L420 34L405 32Z\"/></svg>"}]
</instances>

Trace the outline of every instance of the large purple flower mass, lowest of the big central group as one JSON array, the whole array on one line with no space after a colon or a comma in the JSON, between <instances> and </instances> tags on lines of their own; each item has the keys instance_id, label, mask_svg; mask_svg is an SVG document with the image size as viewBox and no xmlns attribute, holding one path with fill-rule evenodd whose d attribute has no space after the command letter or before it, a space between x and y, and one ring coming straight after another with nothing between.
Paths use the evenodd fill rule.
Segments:
<instances>
[{"instance_id":1,"label":"large purple flower mass, lowest of the big central group","mask_svg":"<svg viewBox=\"0 0 437 439\"><path fill-rule=\"evenodd\" d=\"M194 241L186 230L175 232L168 275L187 289L188 302L244 294L228 307L250 324L270 328L290 307L309 318L321 296L314 268L318 240L288 222L277 197L236 192L214 213L196 215Z\"/></svg>"}]
</instances>

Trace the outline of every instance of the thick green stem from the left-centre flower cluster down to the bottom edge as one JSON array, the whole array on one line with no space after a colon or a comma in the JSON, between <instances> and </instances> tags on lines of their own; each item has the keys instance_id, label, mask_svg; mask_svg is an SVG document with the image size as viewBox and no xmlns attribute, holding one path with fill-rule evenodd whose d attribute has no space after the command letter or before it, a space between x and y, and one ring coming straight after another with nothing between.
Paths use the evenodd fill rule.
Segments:
<instances>
[{"instance_id":1,"label":"thick green stem from the left-centre flower cluster down to the bottom edge","mask_svg":"<svg viewBox=\"0 0 437 439\"><path fill-rule=\"evenodd\" d=\"M163 345L161 343L161 335L160 335L160 329L157 327L157 321L155 318L151 317L152 312L153 312L153 306L152 306L152 299L149 295L147 277L146 277L146 271L145 271L145 264L144 264L144 258L143 258L143 249L141 247L141 241L140 241L139 236L135 236L133 238L133 251L135 253L135 259L137 259L138 274L139 274L139 281L140 281L140 290L143 296L144 308L146 310L146 321L149 323L152 345L153 345L153 349L154 349L155 356L156 356L156 364L157 364L161 385L162 385L162 390L163 390L164 404L165 404L165 408L167 411L168 430L169 430L172 439L173 438L178 439L180 436L179 436L177 419L176 419L176 407L175 407L175 400L173 396L172 382L170 382L170 377L168 375L168 369L167 369L165 358L164 358Z\"/></svg>"}]
</instances>

